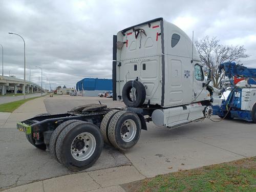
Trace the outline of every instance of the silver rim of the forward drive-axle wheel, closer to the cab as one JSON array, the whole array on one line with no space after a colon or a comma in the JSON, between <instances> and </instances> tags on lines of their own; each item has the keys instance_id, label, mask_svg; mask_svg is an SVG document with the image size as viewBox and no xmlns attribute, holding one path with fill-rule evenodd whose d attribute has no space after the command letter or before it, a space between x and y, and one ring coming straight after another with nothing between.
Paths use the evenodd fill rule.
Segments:
<instances>
[{"instance_id":1,"label":"silver rim of the forward drive-axle wheel, closer to the cab","mask_svg":"<svg viewBox=\"0 0 256 192\"><path fill-rule=\"evenodd\" d=\"M121 126L120 135L123 141L130 142L134 139L137 132L137 126L134 120L127 119Z\"/></svg>"}]
</instances>

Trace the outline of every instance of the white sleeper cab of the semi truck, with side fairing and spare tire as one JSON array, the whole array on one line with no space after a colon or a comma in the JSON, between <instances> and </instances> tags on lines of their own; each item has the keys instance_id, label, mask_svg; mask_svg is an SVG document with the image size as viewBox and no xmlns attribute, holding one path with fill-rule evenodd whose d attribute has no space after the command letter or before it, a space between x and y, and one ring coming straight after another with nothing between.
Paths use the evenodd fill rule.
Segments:
<instances>
[{"instance_id":1,"label":"white sleeper cab of the semi truck, with side fairing and spare tire","mask_svg":"<svg viewBox=\"0 0 256 192\"><path fill-rule=\"evenodd\" d=\"M163 18L119 31L113 59L113 98L155 109L156 125L201 120L212 115L211 105L221 104L217 90L207 86L193 42Z\"/></svg>"}]
</instances>

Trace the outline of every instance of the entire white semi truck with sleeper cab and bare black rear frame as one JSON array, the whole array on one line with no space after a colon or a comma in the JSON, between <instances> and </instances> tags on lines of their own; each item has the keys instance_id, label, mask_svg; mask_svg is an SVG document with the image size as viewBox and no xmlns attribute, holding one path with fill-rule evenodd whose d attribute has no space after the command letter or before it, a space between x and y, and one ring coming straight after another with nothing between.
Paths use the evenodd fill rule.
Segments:
<instances>
[{"instance_id":1,"label":"entire white semi truck with sleeper cab and bare black rear frame","mask_svg":"<svg viewBox=\"0 0 256 192\"><path fill-rule=\"evenodd\" d=\"M123 100L126 108L87 104L65 114L39 114L18 122L17 129L70 170L86 169L103 142L121 151L133 147L146 122L174 128L209 118L221 99L208 83L192 41L157 18L113 37L113 100Z\"/></svg>"}]
</instances>

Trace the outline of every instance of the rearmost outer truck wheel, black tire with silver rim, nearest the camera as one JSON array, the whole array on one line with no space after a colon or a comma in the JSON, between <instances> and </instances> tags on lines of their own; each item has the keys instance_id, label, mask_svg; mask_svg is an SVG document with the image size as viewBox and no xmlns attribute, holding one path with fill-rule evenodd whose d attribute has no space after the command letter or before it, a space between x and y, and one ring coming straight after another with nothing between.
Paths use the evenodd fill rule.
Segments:
<instances>
[{"instance_id":1,"label":"rearmost outer truck wheel, black tire with silver rim, nearest the camera","mask_svg":"<svg viewBox=\"0 0 256 192\"><path fill-rule=\"evenodd\" d=\"M56 156L72 171L91 167L103 150L103 137L99 128L89 122L69 124L60 133L56 142Z\"/></svg>"}]
</instances>

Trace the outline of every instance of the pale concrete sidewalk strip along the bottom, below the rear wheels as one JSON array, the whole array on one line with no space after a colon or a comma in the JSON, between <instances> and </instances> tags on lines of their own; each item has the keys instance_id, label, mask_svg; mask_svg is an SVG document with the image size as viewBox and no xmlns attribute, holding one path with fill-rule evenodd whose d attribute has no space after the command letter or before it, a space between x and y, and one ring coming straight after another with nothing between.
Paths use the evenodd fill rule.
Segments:
<instances>
[{"instance_id":1,"label":"pale concrete sidewalk strip along the bottom, below the rear wheels","mask_svg":"<svg viewBox=\"0 0 256 192\"><path fill-rule=\"evenodd\" d=\"M26 185L6 189L5 192L14 191L124 191L120 184L130 183L144 179L134 166L121 166L95 170L92 172L76 173Z\"/></svg>"}]
</instances>

